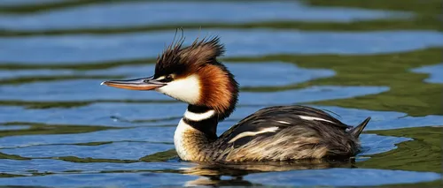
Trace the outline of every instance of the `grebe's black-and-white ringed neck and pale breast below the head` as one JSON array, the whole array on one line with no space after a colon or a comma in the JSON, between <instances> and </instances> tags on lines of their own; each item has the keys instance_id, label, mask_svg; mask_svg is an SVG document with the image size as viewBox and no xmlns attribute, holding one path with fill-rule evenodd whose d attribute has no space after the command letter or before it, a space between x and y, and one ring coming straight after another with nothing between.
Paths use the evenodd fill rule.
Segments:
<instances>
[{"instance_id":1,"label":"grebe's black-and-white ringed neck and pale breast below the head","mask_svg":"<svg viewBox=\"0 0 443 188\"><path fill-rule=\"evenodd\" d=\"M177 154L185 161L206 161L211 143L217 139L219 115L215 109L189 105L178 124L174 144Z\"/></svg>"}]
</instances>

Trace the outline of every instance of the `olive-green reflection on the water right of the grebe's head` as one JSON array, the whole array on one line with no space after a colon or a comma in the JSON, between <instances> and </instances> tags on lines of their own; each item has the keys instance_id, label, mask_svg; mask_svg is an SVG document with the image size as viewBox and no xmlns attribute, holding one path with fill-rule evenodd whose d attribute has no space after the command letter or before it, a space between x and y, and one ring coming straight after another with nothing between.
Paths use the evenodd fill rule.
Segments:
<instances>
[{"instance_id":1,"label":"olive-green reflection on the water right of the grebe's head","mask_svg":"<svg viewBox=\"0 0 443 188\"><path fill-rule=\"evenodd\" d=\"M339 106L355 109L406 112L410 116L441 115L441 84L424 83L428 74L415 73L416 67L439 64L440 48L421 49L406 53L379 55L274 55L231 58L229 61L269 62L283 61L304 68L327 68L337 72L331 78L310 80L290 86L245 88L245 91L271 92L307 86L389 86L382 94L370 94L354 98L309 102L310 104Z\"/></svg>"}]
</instances>

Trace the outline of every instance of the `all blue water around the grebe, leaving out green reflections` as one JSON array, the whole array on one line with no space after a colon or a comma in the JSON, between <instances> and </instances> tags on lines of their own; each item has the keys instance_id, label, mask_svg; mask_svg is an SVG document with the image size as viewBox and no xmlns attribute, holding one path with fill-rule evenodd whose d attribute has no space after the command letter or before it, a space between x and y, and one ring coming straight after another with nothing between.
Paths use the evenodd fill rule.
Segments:
<instances>
[{"instance_id":1,"label":"all blue water around the grebe, leaving out green reflections","mask_svg":"<svg viewBox=\"0 0 443 188\"><path fill-rule=\"evenodd\" d=\"M30 0L4 1L0 4L31 4ZM50 2L47 0L46 2ZM51 2L61 2L52 0ZM33 2L32 4L37 4ZM198 11L195 11L198 10ZM372 11L354 8L311 7L299 2L136 2L89 4L29 14L3 14L0 28L24 31L168 25L176 23L251 23L272 20L307 22L349 22L370 19L406 19L409 12ZM130 34L63 34L0 37L0 64L102 64L108 61L155 58L175 31ZM443 46L443 34L428 30L331 32L289 29L202 29L185 30L189 44L195 37L220 35L228 49L226 56L268 56L278 54L377 55ZM225 62L244 87L291 86L316 79L330 79L340 72L307 69L284 62ZM355 62L359 64L359 62ZM0 105L1 154L15 154L29 160L0 159L0 173L25 177L0 177L0 185L43 186L116 186L152 187L196 184L263 184L292 186L354 186L407 184L441 178L433 172L393 169L358 169L345 163L334 168L312 165L259 165L260 169L244 180L212 182L200 175L211 173L205 165L180 162L141 162L140 158L174 148L175 125L186 104L154 92L136 92L100 86L106 78L150 76L154 64L118 64L112 68L0 70L0 80L30 79L0 85L1 102L85 102L70 108L28 108L20 104ZM426 82L443 83L442 64L410 70L428 73ZM49 76L70 79L43 80ZM85 78L81 78L84 76ZM91 79L101 76L103 79ZM86 78L89 77L89 78ZM242 92L234 114L219 126L226 131L238 120L272 105L348 99L383 94L389 86L306 86L275 92ZM128 101L130 100L130 102ZM314 106L340 115L346 124L372 120L366 130L389 130L441 125L443 116L411 117L397 111ZM13 124L13 125L11 125ZM72 128L74 127L74 128ZM84 127L89 127L86 129ZM91 130L101 128L100 131ZM78 132L51 132L51 130ZM48 131L40 132L39 131ZM29 132L25 132L29 131ZM21 132L24 132L21 134ZM51 132L51 133L49 133ZM403 137L362 134L364 151L369 154L392 151L397 144L412 140ZM104 142L85 146L91 142ZM103 159L105 162L63 161L66 156ZM110 161L117 160L117 161ZM119 161L120 160L120 161ZM121 160L133 160L120 163ZM268 170L267 170L268 169ZM207 171L205 171L207 170ZM271 171L271 172L266 172Z\"/></svg>"}]
</instances>

